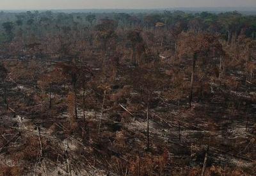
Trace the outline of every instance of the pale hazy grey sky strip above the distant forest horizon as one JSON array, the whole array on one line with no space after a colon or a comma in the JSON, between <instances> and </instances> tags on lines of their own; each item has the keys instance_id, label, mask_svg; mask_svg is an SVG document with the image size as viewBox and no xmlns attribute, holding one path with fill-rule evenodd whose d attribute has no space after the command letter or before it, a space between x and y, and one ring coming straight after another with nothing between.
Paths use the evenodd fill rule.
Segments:
<instances>
[{"instance_id":1,"label":"pale hazy grey sky strip above the distant forest horizon","mask_svg":"<svg viewBox=\"0 0 256 176\"><path fill-rule=\"evenodd\" d=\"M0 9L172 8L255 6L256 0L0 0Z\"/></svg>"}]
</instances>

